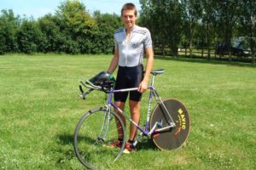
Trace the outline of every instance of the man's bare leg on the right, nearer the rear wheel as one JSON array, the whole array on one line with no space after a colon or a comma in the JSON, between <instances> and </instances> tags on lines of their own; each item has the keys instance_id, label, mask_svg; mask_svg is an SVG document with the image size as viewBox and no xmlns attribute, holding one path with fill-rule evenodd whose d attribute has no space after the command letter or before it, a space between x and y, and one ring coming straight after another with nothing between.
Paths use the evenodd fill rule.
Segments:
<instances>
[{"instance_id":1,"label":"man's bare leg on the right, nearer the rear wheel","mask_svg":"<svg viewBox=\"0 0 256 170\"><path fill-rule=\"evenodd\" d=\"M139 124L140 122L140 102L138 101L129 101L130 112L131 112L131 119ZM137 127L130 123L130 140L134 140L137 133Z\"/></svg>"}]
</instances>

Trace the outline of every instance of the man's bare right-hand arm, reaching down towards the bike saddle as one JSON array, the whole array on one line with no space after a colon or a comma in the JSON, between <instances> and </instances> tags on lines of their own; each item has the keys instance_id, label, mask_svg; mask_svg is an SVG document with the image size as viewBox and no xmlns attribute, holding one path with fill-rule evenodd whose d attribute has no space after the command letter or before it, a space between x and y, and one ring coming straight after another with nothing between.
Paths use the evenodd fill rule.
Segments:
<instances>
[{"instance_id":1,"label":"man's bare right-hand arm, reaching down towards the bike saddle","mask_svg":"<svg viewBox=\"0 0 256 170\"><path fill-rule=\"evenodd\" d=\"M153 62L154 62L153 48L146 48L146 56L147 56L147 64L146 64L146 70L145 70L143 82L141 82L138 87L138 91L140 93L144 93L148 89L148 80L149 80L150 71L153 68Z\"/></svg>"}]
</instances>

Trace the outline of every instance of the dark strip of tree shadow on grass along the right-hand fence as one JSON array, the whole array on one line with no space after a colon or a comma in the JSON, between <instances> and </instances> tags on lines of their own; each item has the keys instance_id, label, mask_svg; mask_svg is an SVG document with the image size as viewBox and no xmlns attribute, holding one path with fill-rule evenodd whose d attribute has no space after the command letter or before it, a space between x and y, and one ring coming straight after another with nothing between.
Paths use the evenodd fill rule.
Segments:
<instances>
[{"instance_id":1,"label":"dark strip of tree shadow on grass along the right-hand fence","mask_svg":"<svg viewBox=\"0 0 256 170\"><path fill-rule=\"evenodd\" d=\"M212 64L212 65L230 65L230 66L241 66L241 67L251 67L256 68L256 65L253 65L253 63L246 63L241 61L228 61L228 59L202 59L198 57L184 57L184 56L178 56L178 57L172 57L172 56L160 56L155 55L155 59L163 59L163 60L173 60L173 61L183 61L183 62L190 62L190 63L201 63L201 64Z\"/></svg>"}]
</instances>

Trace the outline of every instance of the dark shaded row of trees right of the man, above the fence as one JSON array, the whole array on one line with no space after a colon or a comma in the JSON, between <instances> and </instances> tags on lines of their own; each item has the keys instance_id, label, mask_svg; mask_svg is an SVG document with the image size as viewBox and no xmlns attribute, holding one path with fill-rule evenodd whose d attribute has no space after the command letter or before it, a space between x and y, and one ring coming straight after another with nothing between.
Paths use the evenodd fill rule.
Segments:
<instances>
[{"instance_id":1,"label":"dark shaded row of trees right of the man, above the fence","mask_svg":"<svg viewBox=\"0 0 256 170\"><path fill-rule=\"evenodd\" d=\"M256 32L255 1L141 0L140 3L142 4L140 20L144 26L148 26L153 32L154 42L157 48L163 50L165 48L163 46L167 46L168 37L172 37L172 40L169 42L179 42L179 45L189 46L190 55L192 54L192 48L199 46L201 48L207 47L209 59L210 48L214 48L217 42L225 42L230 47L231 40L234 37L243 36L250 37L251 50L254 56L256 47L256 43L253 41ZM170 8L170 3L177 3L182 8L176 11L175 8ZM179 17L179 11L182 12L181 18ZM171 14L172 12L174 15ZM175 18L181 20L182 27L178 27L180 24L176 20L173 20ZM176 25L175 23L178 24ZM177 34L172 34L172 31ZM175 47L175 45L172 46ZM169 48L172 49L172 46L169 46ZM175 49L172 49L172 51L175 51ZM253 60L255 61L255 59Z\"/></svg>"}]
</instances>

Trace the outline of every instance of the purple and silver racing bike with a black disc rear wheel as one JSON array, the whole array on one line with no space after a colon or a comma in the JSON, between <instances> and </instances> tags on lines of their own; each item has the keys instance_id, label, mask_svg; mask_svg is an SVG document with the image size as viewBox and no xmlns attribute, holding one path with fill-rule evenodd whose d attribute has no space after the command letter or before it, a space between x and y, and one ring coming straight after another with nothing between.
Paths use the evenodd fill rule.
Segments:
<instances>
[{"instance_id":1,"label":"purple and silver racing bike with a black disc rear wheel","mask_svg":"<svg viewBox=\"0 0 256 170\"><path fill-rule=\"evenodd\" d=\"M151 71L152 80L148 86L148 111L144 127L133 122L125 111L113 103L113 94L137 90L137 88L114 89L114 81L100 81L93 84L90 81L80 81L81 97L85 97L93 90L101 90L107 94L107 101L102 107L87 111L75 128L73 147L79 161L87 168L108 168L113 161L117 161L125 149L125 142L120 147L113 148L110 143L119 138L125 139L125 125L119 115L137 127L137 140L150 137L160 150L177 150L189 136L189 111L178 99L161 99L154 87L155 77L164 73L163 69ZM84 92L85 88L89 88ZM151 111L152 100L156 105ZM115 113L118 111L119 113ZM142 122L142 120L141 120ZM119 134L118 134L119 131ZM121 134L121 136L120 136Z\"/></svg>"}]
</instances>

